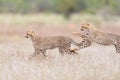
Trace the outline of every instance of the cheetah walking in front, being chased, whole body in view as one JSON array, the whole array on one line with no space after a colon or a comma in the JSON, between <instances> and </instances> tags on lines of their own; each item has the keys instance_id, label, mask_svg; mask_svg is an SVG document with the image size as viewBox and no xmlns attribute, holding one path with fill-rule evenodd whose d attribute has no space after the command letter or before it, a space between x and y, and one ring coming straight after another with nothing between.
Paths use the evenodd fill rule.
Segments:
<instances>
[{"instance_id":1,"label":"cheetah walking in front, being chased, whole body in view","mask_svg":"<svg viewBox=\"0 0 120 80\"><path fill-rule=\"evenodd\" d=\"M39 53L42 53L44 57L46 56L46 50L59 48L61 54L77 54L75 51L77 49L71 50L71 44L79 46L78 43L74 42L71 38L65 36L52 36L52 37L41 37L35 33L35 31L28 31L25 35L26 38L31 38L33 47L35 49L34 57Z\"/></svg>"}]
</instances>

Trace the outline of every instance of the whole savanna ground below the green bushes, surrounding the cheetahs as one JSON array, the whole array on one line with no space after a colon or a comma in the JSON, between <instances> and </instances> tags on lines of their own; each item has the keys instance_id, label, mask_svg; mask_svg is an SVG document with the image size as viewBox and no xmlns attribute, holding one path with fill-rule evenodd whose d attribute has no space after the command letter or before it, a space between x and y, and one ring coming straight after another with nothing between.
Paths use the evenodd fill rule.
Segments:
<instances>
[{"instance_id":1,"label":"whole savanna ground below the green bushes, surrounding the cheetahs","mask_svg":"<svg viewBox=\"0 0 120 80\"><path fill-rule=\"evenodd\" d=\"M74 14L70 20L57 14L0 15L0 80L119 80L120 54L114 46L92 44L78 55L61 56L58 49L48 50L28 60L34 52L30 39L24 38L31 29L40 36L64 35L80 42L72 32L89 21L106 32L119 34L119 17Z\"/></svg>"}]
</instances>

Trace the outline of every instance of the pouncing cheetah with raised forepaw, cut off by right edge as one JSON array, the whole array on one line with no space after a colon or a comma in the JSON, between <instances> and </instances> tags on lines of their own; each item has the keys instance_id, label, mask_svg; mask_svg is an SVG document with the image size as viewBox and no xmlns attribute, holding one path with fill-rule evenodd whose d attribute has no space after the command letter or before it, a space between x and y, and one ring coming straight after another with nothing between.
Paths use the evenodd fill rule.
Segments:
<instances>
[{"instance_id":1,"label":"pouncing cheetah with raised forepaw, cut off by right edge","mask_svg":"<svg viewBox=\"0 0 120 80\"><path fill-rule=\"evenodd\" d=\"M80 32L74 32L74 35L75 36L82 35L83 37L86 37L85 41L89 45L84 47L89 47L92 42L105 46L114 45L116 52L120 53L120 35L100 31L93 24L90 23L82 24Z\"/></svg>"}]
</instances>

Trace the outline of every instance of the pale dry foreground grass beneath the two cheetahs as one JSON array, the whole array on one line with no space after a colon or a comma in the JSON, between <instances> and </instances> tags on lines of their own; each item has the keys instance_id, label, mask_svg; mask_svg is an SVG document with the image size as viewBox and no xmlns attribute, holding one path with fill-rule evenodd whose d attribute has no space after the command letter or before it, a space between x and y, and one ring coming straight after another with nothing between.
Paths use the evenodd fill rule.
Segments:
<instances>
[{"instance_id":1,"label":"pale dry foreground grass beneath the two cheetahs","mask_svg":"<svg viewBox=\"0 0 120 80\"><path fill-rule=\"evenodd\" d=\"M57 49L48 57L33 53L30 40L0 42L0 80L119 80L120 55L113 46L93 44L78 55L61 56Z\"/></svg>"}]
</instances>

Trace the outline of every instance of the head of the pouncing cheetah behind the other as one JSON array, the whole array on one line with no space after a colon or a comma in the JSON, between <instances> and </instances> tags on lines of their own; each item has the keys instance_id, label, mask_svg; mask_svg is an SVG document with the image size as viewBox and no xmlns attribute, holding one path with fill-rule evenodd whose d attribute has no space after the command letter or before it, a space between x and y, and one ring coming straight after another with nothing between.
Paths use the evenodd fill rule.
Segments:
<instances>
[{"instance_id":1,"label":"head of the pouncing cheetah behind the other","mask_svg":"<svg viewBox=\"0 0 120 80\"><path fill-rule=\"evenodd\" d=\"M80 33L87 37L95 37L96 27L90 23L84 23L81 25Z\"/></svg>"}]
</instances>

